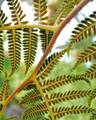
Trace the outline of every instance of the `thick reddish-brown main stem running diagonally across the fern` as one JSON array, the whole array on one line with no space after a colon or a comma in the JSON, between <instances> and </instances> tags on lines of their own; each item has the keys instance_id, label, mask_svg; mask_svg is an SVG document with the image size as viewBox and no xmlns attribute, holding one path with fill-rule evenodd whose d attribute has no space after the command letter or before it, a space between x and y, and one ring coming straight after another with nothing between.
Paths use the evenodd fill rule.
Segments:
<instances>
[{"instance_id":1,"label":"thick reddish-brown main stem running diagonally across the fern","mask_svg":"<svg viewBox=\"0 0 96 120\"><path fill-rule=\"evenodd\" d=\"M33 73L31 74L31 76L25 80L12 94L11 96L8 97L5 106L7 106L7 104L10 102L10 100L15 96L16 93L18 93L27 83L29 83L30 81L32 81L33 79L35 79L35 76L37 74L37 72L39 71L40 67L42 66L44 60L46 59L47 55L49 54L49 52L51 51L57 37L59 36L60 32L62 31L62 29L64 29L64 27L72 20L72 18L74 18L77 13L87 4L89 3L90 0L81 0L81 2L77 5L76 8L74 8L72 10L72 12L65 18L65 20L60 24L60 27L56 30L56 32L54 33L44 55L42 56L40 62L38 63L37 67L35 68L35 70L33 71Z\"/></svg>"}]
</instances>

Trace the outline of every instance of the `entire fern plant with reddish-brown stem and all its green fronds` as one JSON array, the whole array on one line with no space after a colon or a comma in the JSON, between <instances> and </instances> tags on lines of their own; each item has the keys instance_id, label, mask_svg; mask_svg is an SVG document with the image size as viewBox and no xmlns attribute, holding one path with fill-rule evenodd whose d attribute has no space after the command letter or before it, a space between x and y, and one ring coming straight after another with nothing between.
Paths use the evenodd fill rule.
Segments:
<instances>
[{"instance_id":1,"label":"entire fern plant with reddish-brown stem and all its green fronds","mask_svg":"<svg viewBox=\"0 0 96 120\"><path fill-rule=\"evenodd\" d=\"M0 90L0 117L16 94L24 91L26 94L18 100L18 105L24 108L22 120L66 120L67 115L89 114L90 120L96 119L96 108L92 101L96 97L96 88L92 88L93 79L96 80L96 43L90 40L85 49L79 51L76 63L71 72L48 78L53 68L60 62L64 54L71 51L84 42L88 37L96 35L96 11L79 23L70 36L69 43L63 50L51 53L52 47L62 29L90 0L61 0L55 14L48 17L46 0L33 0L34 22L25 21L19 0L6 0L11 11L12 22L7 23L6 13L0 8L0 76L4 76ZM4 33L8 39L8 56L4 49ZM41 42L43 56L34 71L29 75L28 71L34 64L38 43ZM23 46L24 63L26 66L24 80L13 92L10 88L11 77L16 74L21 63L21 49ZM51 54L48 56L48 54ZM8 58L6 58L8 57ZM6 59L11 64L10 70L5 67ZM82 73L75 73L81 63L92 62L92 66ZM83 64L84 65L84 64ZM63 67L63 66L62 66ZM61 68L62 69L62 68ZM66 69L66 68L65 68ZM83 83L90 89L65 90L64 87L75 83ZM61 89L61 90L60 90ZM61 92L62 91L62 92ZM79 99L86 99L86 104L76 104ZM71 103L71 106L65 104ZM8 117L14 119L14 117Z\"/></svg>"}]
</instances>

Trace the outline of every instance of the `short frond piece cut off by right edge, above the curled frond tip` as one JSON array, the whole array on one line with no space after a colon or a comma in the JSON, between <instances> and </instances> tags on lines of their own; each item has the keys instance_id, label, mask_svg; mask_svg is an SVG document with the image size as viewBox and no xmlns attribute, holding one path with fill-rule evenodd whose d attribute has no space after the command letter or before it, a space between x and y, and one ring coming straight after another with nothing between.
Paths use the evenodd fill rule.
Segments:
<instances>
[{"instance_id":1,"label":"short frond piece cut off by right edge, above the curled frond tip","mask_svg":"<svg viewBox=\"0 0 96 120\"><path fill-rule=\"evenodd\" d=\"M84 74L86 77L91 79L96 78L96 64L93 64Z\"/></svg>"}]
</instances>

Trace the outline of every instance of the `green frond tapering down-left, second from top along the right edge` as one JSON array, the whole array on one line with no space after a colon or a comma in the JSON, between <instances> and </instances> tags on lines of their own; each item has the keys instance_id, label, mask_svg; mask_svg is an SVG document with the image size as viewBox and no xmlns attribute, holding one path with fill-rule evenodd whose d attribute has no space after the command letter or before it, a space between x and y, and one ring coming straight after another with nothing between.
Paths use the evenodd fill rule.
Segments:
<instances>
[{"instance_id":1,"label":"green frond tapering down-left, second from top along the right edge","mask_svg":"<svg viewBox=\"0 0 96 120\"><path fill-rule=\"evenodd\" d=\"M91 44L90 46L87 47L87 49L85 49L83 52L80 53L73 69L75 69L78 66L78 64L81 62L88 62L92 60L96 60L96 44L95 43Z\"/></svg>"}]
</instances>

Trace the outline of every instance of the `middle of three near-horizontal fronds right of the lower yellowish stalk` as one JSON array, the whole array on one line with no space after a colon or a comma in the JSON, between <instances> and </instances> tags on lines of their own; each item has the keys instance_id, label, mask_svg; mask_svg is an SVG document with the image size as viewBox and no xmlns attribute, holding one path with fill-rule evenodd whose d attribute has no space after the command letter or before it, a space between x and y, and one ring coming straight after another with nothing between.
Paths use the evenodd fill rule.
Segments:
<instances>
[{"instance_id":1,"label":"middle of three near-horizontal fronds right of the lower yellowish stalk","mask_svg":"<svg viewBox=\"0 0 96 120\"><path fill-rule=\"evenodd\" d=\"M74 99L79 99L79 98L83 98L86 96L90 96L92 94L92 91L84 91L84 90L80 90L80 91L68 91L65 93L53 93L50 96L47 96L47 99L49 101L49 103L61 103L63 101L68 101L68 100L74 100Z\"/></svg>"}]
</instances>

